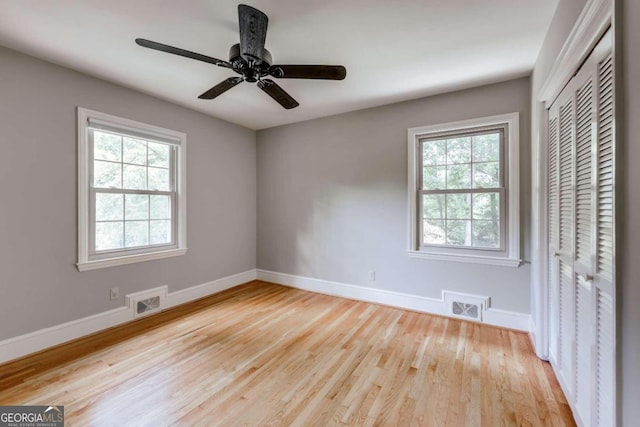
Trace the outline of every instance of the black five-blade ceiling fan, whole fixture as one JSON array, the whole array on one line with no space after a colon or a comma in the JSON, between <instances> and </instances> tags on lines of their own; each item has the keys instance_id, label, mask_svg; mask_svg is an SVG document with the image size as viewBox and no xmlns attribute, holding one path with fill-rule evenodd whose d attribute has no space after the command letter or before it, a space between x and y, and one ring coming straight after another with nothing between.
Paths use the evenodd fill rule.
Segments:
<instances>
[{"instance_id":1,"label":"black five-blade ceiling fan, whole fixture","mask_svg":"<svg viewBox=\"0 0 640 427\"><path fill-rule=\"evenodd\" d=\"M136 39L136 43L149 49L229 68L240 74L241 77L229 77L218 83L200 95L200 99L213 99L243 81L257 82L260 89L288 110L297 107L298 102L276 82L265 77L323 80L343 80L346 77L347 70L342 65L272 65L271 53L264 48L269 22L267 15L251 6L241 4L238 5L238 21L240 43L229 49L229 61L146 39Z\"/></svg>"}]
</instances>

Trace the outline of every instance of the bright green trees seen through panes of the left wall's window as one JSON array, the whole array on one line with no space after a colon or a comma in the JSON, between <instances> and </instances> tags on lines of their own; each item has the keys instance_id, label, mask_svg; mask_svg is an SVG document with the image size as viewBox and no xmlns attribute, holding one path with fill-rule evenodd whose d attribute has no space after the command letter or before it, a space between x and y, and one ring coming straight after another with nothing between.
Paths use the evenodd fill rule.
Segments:
<instances>
[{"instance_id":1,"label":"bright green trees seen through panes of the left wall's window","mask_svg":"<svg viewBox=\"0 0 640 427\"><path fill-rule=\"evenodd\" d=\"M91 130L96 252L173 241L171 146Z\"/></svg>"}]
</instances>

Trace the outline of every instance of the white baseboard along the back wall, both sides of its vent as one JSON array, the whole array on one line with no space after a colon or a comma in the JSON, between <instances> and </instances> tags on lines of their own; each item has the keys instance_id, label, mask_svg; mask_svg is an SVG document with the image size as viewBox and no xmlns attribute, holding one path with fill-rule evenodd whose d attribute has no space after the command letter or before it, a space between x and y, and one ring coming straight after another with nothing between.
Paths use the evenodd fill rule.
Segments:
<instances>
[{"instance_id":1,"label":"white baseboard along the back wall, both sides of its vent","mask_svg":"<svg viewBox=\"0 0 640 427\"><path fill-rule=\"evenodd\" d=\"M257 270L257 279L265 282L277 283L292 288L303 289L321 294L334 295L343 298L390 305L407 310L448 316L449 311L444 301L419 295L404 294L384 289L367 288L347 283L331 282L313 279L293 274L277 273L274 271ZM513 311L489 308L483 313L482 323L517 331L529 332L530 315Z\"/></svg>"}]
</instances>

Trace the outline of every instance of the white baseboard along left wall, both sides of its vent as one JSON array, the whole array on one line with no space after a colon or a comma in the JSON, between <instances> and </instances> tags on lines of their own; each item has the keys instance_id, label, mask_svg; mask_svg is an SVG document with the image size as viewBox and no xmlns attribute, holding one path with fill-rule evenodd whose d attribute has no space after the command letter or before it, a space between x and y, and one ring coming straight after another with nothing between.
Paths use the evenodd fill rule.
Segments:
<instances>
[{"instance_id":1,"label":"white baseboard along left wall, both sides of its vent","mask_svg":"<svg viewBox=\"0 0 640 427\"><path fill-rule=\"evenodd\" d=\"M187 289L170 292L166 295L162 309L212 295L255 279L256 270L249 270ZM133 309L124 306L9 338L0 341L0 363L17 359L27 354L35 353L36 351L44 350L45 348L62 344L131 320L134 320Z\"/></svg>"}]
</instances>

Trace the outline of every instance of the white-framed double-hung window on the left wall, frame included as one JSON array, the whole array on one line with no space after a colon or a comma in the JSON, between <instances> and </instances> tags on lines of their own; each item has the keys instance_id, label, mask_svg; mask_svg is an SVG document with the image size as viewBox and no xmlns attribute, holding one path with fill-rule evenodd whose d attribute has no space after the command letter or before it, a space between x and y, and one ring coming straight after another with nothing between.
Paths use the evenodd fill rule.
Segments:
<instances>
[{"instance_id":1,"label":"white-framed double-hung window on the left wall, frame included","mask_svg":"<svg viewBox=\"0 0 640 427\"><path fill-rule=\"evenodd\" d=\"M78 108L78 269L186 252L186 135Z\"/></svg>"}]
</instances>

